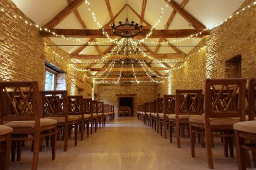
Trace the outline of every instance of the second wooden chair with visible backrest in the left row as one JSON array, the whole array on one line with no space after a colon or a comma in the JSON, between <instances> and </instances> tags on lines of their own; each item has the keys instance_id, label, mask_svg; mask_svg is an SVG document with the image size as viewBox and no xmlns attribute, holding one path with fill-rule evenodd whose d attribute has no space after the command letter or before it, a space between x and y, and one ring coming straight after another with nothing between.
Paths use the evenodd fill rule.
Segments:
<instances>
[{"instance_id":1,"label":"second wooden chair with visible backrest in the left row","mask_svg":"<svg viewBox=\"0 0 256 170\"><path fill-rule=\"evenodd\" d=\"M68 96L67 91L44 91L40 92L43 102L43 117L56 120L58 127L58 139L62 132L64 140L63 150L67 151L68 135L74 128L74 143L77 145L77 127L79 118L68 115Z\"/></svg>"}]
</instances>

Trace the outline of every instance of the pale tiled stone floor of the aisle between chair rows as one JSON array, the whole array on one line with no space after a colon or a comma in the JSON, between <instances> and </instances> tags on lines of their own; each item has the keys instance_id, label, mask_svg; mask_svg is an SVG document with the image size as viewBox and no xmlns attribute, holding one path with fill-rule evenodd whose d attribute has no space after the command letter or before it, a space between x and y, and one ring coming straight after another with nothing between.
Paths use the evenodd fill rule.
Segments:
<instances>
[{"instance_id":1,"label":"pale tiled stone floor of the aisle between chair rows","mask_svg":"<svg viewBox=\"0 0 256 170\"><path fill-rule=\"evenodd\" d=\"M63 152L63 142L58 141L54 161L51 149L44 148L38 169L208 169L205 149L196 145L196 158L191 158L189 139L181 141L181 148L177 148L176 143L171 144L137 118L115 118L90 138L79 141L77 146L70 139L67 152ZM215 169L237 169L236 159L224 157L220 142L216 143L213 153ZM24 148L22 160L12 162L10 169L30 169L31 159L29 148Z\"/></svg>"}]
</instances>

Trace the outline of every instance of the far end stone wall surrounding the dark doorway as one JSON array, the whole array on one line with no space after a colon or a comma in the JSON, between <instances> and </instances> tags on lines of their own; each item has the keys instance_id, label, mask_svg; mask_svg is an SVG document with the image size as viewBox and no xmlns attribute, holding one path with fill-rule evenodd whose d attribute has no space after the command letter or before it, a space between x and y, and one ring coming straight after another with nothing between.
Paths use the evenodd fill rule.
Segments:
<instances>
[{"instance_id":1,"label":"far end stone wall surrounding the dark doorway","mask_svg":"<svg viewBox=\"0 0 256 170\"><path fill-rule=\"evenodd\" d=\"M117 113L118 109L118 97L116 94L136 94L134 97L135 113L138 105L154 101L156 95L156 85L154 83L97 85L95 90L99 101L115 106L115 113Z\"/></svg>"}]
</instances>

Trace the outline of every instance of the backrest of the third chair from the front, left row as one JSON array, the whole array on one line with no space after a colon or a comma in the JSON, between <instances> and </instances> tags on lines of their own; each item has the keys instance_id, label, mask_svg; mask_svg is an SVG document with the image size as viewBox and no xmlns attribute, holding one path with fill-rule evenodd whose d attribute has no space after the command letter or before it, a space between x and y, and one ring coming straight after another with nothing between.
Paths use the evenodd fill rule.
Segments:
<instances>
[{"instance_id":1,"label":"backrest of the third chair from the front, left row","mask_svg":"<svg viewBox=\"0 0 256 170\"><path fill-rule=\"evenodd\" d=\"M83 96L68 96L68 115L81 115L84 118Z\"/></svg>"}]
</instances>

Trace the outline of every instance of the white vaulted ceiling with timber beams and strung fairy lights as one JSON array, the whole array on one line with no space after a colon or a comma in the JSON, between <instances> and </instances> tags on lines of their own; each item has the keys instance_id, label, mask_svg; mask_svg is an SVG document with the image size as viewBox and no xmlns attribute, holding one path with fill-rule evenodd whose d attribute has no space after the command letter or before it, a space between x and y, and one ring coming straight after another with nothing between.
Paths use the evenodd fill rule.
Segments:
<instances>
[{"instance_id":1,"label":"white vaulted ceiling with timber beams and strung fairy lights","mask_svg":"<svg viewBox=\"0 0 256 170\"><path fill-rule=\"evenodd\" d=\"M113 83L161 82L169 71L178 69L175 67L177 63L181 66L186 64L186 59L193 55L188 53L204 36L209 35L207 28L225 21L244 2L12 1L37 24L43 37L50 37L56 45L71 54L70 64L83 66L84 69L78 71L84 71L88 78L96 78L101 83L107 80ZM132 25L137 32L125 39L128 36L122 36L121 31L120 38L120 35L116 36L118 26L114 25L128 17L134 20ZM198 49L204 50L204 47ZM125 60L129 60L129 67L122 64ZM129 74L132 79L124 76Z\"/></svg>"}]
</instances>

